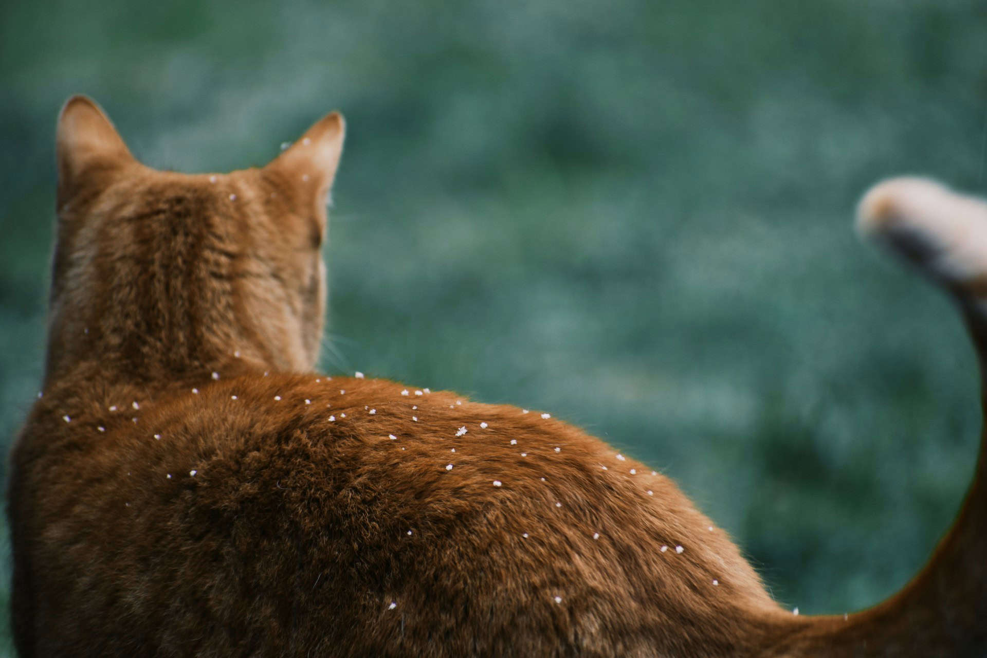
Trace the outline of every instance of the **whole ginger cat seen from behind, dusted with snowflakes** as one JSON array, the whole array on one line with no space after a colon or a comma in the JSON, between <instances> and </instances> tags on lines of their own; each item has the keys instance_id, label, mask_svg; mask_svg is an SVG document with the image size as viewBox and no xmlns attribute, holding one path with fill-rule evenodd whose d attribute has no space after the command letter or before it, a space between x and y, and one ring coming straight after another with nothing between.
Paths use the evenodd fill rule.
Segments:
<instances>
[{"instance_id":1,"label":"whole ginger cat seen from behind, dusted with snowflakes","mask_svg":"<svg viewBox=\"0 0 987 658\"><path fill-rule=\"evenodd\" d=\"M22 656L983 656L981 460L872 610L782 610L667 477L547 413L311 372L342 116L263 169L157 172L57 129L43 395L8 515ZM873 189L863 229L984 353L987 204Z\"/></svg>"}]
</instances>

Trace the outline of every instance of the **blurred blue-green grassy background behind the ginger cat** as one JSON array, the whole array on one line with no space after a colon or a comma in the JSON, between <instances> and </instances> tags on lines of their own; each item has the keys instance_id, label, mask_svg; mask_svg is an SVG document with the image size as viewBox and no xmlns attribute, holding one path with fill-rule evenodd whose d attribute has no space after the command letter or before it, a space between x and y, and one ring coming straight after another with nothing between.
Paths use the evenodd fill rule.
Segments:
<instances>
[{"instance_id":1,"label":"blurred blue-green grassy background behind the ginger cat","mask_svg":"<svg viewBox=\"0 0 987 658\"><path fill-rule=\"evenodd\" d=\"M675 478L785 605L872 605L949 526L979 411L949 303L854 205L983 191L985 34L944 0L5 2L0 437L38 390L70 94L189 172L339 108L324 369L550 410Z\"/></svg>"}]
</instances>

